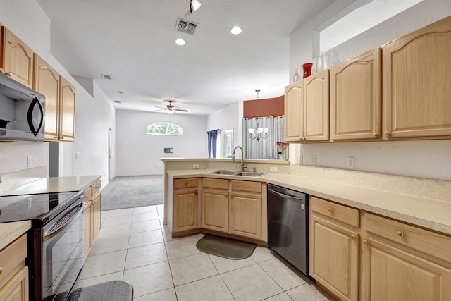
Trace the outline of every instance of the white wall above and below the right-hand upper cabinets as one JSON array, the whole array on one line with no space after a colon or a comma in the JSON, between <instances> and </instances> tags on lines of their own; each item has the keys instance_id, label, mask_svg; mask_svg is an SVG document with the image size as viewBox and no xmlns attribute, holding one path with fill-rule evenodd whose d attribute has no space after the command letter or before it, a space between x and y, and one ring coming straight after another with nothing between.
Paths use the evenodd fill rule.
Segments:
<instances>
[{"instance_id":1,"label":"white wall above and below the right-hand upper cabinets","mask_svg":"<svg viewBox=\"0 0 451 301\"><path fill-rule=\"evenodd\" d=\"M313 30L351 2L335 1L292 33L291 73L302 63L312 61ZM450 15L451 1L424 0L336 49L340 58L349 59ZM296 145L290 147L290 162L303 156L304 164L309 165L311 155L315 155L317 166L346 168L347 156L354 156L359 171L451 180L450 149L451 140Z\"/></svg>"}]
</instances>

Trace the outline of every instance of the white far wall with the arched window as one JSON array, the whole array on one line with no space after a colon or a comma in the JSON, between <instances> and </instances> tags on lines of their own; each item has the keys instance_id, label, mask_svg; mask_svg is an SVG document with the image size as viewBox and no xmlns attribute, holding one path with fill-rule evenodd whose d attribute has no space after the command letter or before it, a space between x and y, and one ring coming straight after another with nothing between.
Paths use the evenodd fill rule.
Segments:
<instances>
[{"instance_id":1,"label":"white far wall with the arched window","mask_svg":"<svg viewBox=\"0 0 451 301\"><path fill-rule=\"evenodd\" d=\"M161 158L208 156L206 116L174 113L171 122L183 127L183 136L146 135L146 126L160 121L169 115L116 110L116 176L163 174ZM165 147L173 154L165 154Z\"/></svg>"}]
</instances>

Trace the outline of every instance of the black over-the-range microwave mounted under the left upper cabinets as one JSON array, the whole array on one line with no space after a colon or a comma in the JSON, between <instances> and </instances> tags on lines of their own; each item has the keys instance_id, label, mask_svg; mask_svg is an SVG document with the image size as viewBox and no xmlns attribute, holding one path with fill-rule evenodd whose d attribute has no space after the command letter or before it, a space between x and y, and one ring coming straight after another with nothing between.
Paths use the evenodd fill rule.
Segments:
<instances>
[{"instance_id":1,"label":"black over-the-range microwave mounted under the left upper cabinets","mask_svg":"<svg viewBox=\"0 0 451 301\"><path fill-rule=\"evenodd\" d=\"M44 141L45 97L0 73L0 142Z\"/></svg>"}]
</instances>

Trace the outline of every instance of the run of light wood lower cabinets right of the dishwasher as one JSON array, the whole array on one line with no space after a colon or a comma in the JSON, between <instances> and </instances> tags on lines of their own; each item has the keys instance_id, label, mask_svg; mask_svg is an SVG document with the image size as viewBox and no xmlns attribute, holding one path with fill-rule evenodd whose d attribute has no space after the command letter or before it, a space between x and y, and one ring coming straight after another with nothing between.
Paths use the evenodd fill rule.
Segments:
<instances>
[{"instance_id":1,"label":"run of light wood lower cabinets right of the dishwasher","mask_svg":"<svg viewBox=\"0 0 451 301\"><path fill-rule=\"evenodd\" d=\"M339 300L451 301L450 235L317 197L310 209L309 274Z\"/></svg>"}]
</instances>

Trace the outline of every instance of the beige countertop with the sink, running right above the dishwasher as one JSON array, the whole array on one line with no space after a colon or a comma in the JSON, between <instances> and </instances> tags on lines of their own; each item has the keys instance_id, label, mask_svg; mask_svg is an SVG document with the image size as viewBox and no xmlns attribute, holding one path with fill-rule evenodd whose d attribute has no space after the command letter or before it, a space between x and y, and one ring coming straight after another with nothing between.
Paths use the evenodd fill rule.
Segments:
<instances>
[{"instance_id":1,"label":"beige countertop with the sink, running right above the dishwasher","mask_svg":"<svg viewBox=\"0 0 451 301\"><path fill-rule=\"evenodd\" d=\"M256 178L211 174L212 171L215 170L169 170L167 173L173 178L202 176L271 183L451 235L451 202L290 173L266 173Z\"/></svg>"}]
</instances>

